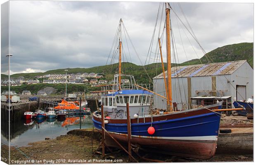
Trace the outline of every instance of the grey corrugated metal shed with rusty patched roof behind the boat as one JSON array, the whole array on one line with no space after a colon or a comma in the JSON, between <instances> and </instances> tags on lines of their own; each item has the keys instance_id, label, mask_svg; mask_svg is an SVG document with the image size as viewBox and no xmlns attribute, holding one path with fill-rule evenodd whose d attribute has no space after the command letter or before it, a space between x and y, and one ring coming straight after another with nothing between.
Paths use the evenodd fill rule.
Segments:
<instances>
[{"instance_id":1,"label":"grey corrugated metal shed with rusty patched roof behind the boat","mask_svg":"<svg viewBox=\"0 0 256 165\"><path fill-rule=\"evenodd\" d=\"M153 78L153 85L154 92L166 96L162 74ZM242 96L237 87L243 87ZM253 89L253 68L246 60L172 67L172 100L178 109L189 107L191 97L231 96L231 103L239 97L253 98ZM154 95L154 108L165 109L166 99Z\"/></svg>"}]
</instances>

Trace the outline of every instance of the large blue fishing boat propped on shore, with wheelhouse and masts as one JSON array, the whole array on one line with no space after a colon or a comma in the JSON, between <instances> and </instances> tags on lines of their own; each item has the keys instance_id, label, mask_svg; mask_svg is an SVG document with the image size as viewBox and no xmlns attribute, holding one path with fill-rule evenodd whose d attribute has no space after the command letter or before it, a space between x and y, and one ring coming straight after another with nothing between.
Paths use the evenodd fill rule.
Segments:
<instances>
[{"instance_id":1,"label":"large blue fishing boat propped on shore, with wheelhouse and masts","mask_svg":"<svg viewBox=\"0 0 256 165\"><path fill-rule=\"evenodd\" d=\"M166 3L166 34L170 38L170 9ZM167 78L164 78L166 85L166 96L157 94L137 85L133 75L122 74L122 19L119 21L117 35L113 42L113 56L119 50L119 73L114 75L113 84L100 85L102 87L101 111L95 111L92 115L94 127L101 131L102 120L107 132L123 146L128 143L127 128L127 103L129 104L130 133L132 144L140 147L152 148L154 150L167 151L171 155L185 156L190 158L207 159L214 156L216 152L220 114L215 113L221 108L223 101L216 104L201 106L193 109L174 111L171 91L171 43L167 40ZM125 31L127 33L127 31ZM128 34L127 34L128 36ZM161 42L159 39L161 52ZM114 57L113 57L114 59ZM161 57L162 59L162 57ZM164 64L163 74L165 77ZM122 79L121 78L127 78ZM127 81L129 80L129 81ZM167 81L167 82L166 82ZM166 109L154 109L153 97L157 95L166 99ZM116 142L105 134L107 146L119 147Z\"/></svg>"}]
</instances>

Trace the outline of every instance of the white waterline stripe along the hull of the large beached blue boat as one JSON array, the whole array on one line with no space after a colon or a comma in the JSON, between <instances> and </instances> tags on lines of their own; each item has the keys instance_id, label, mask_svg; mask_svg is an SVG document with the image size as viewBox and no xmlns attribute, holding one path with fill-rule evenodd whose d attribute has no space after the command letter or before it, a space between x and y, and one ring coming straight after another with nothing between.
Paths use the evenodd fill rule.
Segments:
<instances>
[{"instance_id":1,"label":"white waterline stripe along the hull of the large beached blue boat","mask_svg":"<svg viewBox=\"0 0 256 165\"><path fill-rule=\"evenodd\" d=\"M97 128L96 128L97 129ZM99 129L97 129L99 130ZM100 130L101 131L101 130ZM117 132L109 132L113 134L120 134L127 136L127 134L117 133ZM152 136L138 136L138 135L132 135L132 137L139 137L139 138L150 138L150 139L168 139L168 140L211 140L211 141L217 141L218 136L199 136L199 137L152 137Z\"/></svg>"}]
</instances>

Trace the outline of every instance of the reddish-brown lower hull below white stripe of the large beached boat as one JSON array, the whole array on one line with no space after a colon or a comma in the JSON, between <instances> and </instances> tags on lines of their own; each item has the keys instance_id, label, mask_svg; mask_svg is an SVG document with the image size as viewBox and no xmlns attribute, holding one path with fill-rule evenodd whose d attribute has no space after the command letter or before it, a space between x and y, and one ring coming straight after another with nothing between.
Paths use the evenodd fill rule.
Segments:
<instances>
[{"instance_id":1,"label":"reddish-brown lower hull below white stripe of the large beached boat","mask_svg":"<svg viewBox=\"0 0 256 165\"><path fill-rule=\"evenodd\" d=\"M111 133L121 145L127 148L127 135ZM120 148L116 142L105 134L107 146ZM145 137L132 137L132 144L137 144L145 149L164 152L169 155L189 158L209 159L215 155L217 140L178 140L178 139L157 139Z\"/></svg>"}]
</instances>

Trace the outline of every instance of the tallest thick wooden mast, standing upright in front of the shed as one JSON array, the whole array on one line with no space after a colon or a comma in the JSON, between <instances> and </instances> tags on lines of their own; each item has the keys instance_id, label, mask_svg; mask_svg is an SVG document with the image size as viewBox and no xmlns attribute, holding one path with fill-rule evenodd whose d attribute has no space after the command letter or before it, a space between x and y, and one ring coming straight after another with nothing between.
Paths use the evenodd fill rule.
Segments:
<instances>
[{"instance_id":1,"label":"tallest thick wooden mast, standing upright in front of the shed","mask_svg":"<svg viewBox=\"0 0 256 165\"><path fill-rule=\"evenodd\" d=\"M167 48L167 80L168 80L168 98L169 107L167 110L172 110L172 91L171 91L171 40L170 40L170 6L166 2L166 48Z\"/></svg>"}]
</instances>

